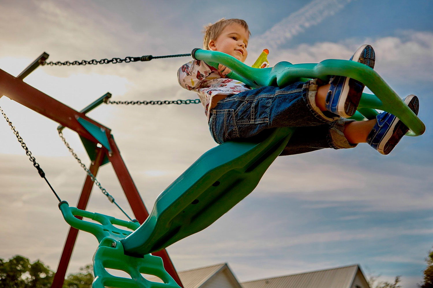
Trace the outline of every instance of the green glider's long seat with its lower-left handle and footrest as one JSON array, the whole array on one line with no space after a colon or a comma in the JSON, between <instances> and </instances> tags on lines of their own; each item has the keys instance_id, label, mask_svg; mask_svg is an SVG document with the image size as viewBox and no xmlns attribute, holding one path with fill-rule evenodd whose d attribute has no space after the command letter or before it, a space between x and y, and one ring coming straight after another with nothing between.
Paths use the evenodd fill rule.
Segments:
<instances>
[{"instance_id":1,"label":"green glider's long seat with its lower-left handle and footrest","mask_svg":"<svg viewBox=\"0 0 433 288\"><path fill-rule=\"evenodd\" d=\"M179 287L164 270L162 259L149 253L203 230L251 193L293 131L278 128L250 142L226 142L210 149L158 196L152 213L141 226L61 202L59 207L66 222L94 234L100 242L94 254L92 287ZM261 141L262 137L265 140ZM147 240L144 245L142 239ZM131 279L112 275L106 269L122 270ZM164 283L151 282L140 273L155 275Z\"/></svg>"}]
</instances>

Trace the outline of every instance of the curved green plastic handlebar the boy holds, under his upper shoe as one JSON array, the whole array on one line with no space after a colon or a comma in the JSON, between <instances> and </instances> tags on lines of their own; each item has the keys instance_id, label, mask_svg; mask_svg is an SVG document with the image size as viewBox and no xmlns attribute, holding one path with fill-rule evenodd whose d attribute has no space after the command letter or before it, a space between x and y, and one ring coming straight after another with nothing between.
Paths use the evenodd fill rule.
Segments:
<instances>
[{"instance_id":1,"label":"curved green plastic handlebar the boy holds, under his upper shoe","mask_svg":"<svg viewBox=\"0 0 433 288\"><path fill-rule=\"evenodd\" d=\"M330 75L347 76L365 84L375 95L362 94L359 108L372 108L388 111L396 115L409 127L407 135L419 136L426 127L420 118L411 111L401 98L372 68L350 60L328 59L320 63L292 64L279 62L270 68L252 68L237 60L235 57L218 51L194 49L192 57L204 60L211 66L218 63L229 67L232 72L227 77L236 79L257 88L259 86L284 87L293 82L305 80L303 78L329 79ZM363 110L372 115L375 112Z\"/></svg>"}]
</instances>

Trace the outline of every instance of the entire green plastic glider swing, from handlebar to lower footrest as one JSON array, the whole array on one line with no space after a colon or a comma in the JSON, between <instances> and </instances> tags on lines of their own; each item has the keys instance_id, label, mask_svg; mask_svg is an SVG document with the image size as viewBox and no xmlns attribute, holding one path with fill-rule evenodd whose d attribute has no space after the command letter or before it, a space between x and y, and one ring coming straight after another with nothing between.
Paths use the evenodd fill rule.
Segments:
<instances>
[{"instance_id":1,"label":"entire green plastic glider swing, from handlebar to lower footrest","mask_svg":"<svg viewBox=\"0 0 433 288\"><path fill-rule=\"evenodd\" d=\"M329 75L348 76L364 83L375 95L362 94L357 120L373 119L375 109L388 111L419 136L423 122L371 68L349 60L324 60L318 64L280 62L271 68L256 69L217 51L194 49L192 56L214 66L221 63L233 72L228 76L252 87L285 86ZM377 96L376 96L377 95ZM94 254L94 288L179 287L164 270L162 260L150 253L203 230L239 203L259 183L266 169L282 152L296 127L264 131L248 141L225 142L205 152L156 199L151 214L142 225L69 207L59 207L68 224L94 234L99 246ZM80 220L91 218L100 224ZM129 230L116 228L121 225ZM132 279L116 277L106 269L118 269ZM140 273L155 275L164 283L151 282Z\"/></svg>"}]
</instances>

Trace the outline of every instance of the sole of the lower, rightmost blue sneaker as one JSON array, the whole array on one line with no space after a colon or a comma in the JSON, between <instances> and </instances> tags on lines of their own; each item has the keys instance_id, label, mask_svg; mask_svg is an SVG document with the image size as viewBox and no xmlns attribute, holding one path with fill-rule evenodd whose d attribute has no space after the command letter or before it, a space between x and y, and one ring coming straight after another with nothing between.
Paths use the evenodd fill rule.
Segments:
<instances>
[{"instance_id":1,"label":"sole of the lower, rightmost blue sneaker","mask_svg":"<svg viewBox=\"0 0 433 288\"><path fill-rule=\"evenodd\" d=\"M408 95L404 98L404 103L410 108L410 110L414 111L416 115L418 115L418 110L420 107L420 102L418 97L415 95ZM409 128L400 121L397 117L392 121L391 126L388 131L385 133L381 140L381 144L378 146L378 152L383 155L388 155L392 149L400 142L401 138L409 131Z\"/></svg>"}]
</instances>

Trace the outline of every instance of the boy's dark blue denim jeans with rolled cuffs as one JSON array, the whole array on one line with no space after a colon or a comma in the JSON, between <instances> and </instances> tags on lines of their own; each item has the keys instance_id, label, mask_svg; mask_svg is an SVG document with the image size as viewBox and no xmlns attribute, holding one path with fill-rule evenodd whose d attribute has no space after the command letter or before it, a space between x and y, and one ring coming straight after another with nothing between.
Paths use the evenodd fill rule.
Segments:
<instances>
[{"instance_id":1,"label":"boy's dark blue denim jeans with rolled cuffs","mask_svg":"<svg viewBox=\"0 0 433 288\"><path fill-rule=\"evenodd\" d=\"M221 144L269 128L298 127L281 155L355 147L343 134L345 124L353 120L322 112L316 106L320 84L319 79L313 79L284 88L265 86L229 95L210 110L210 133Z\"/></svg>"}]
</instances>

